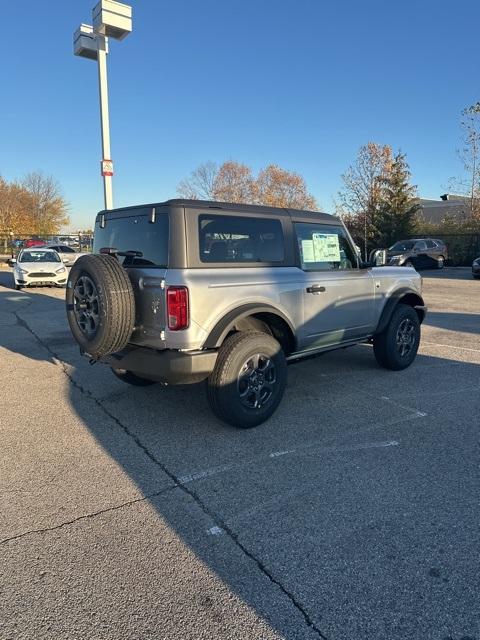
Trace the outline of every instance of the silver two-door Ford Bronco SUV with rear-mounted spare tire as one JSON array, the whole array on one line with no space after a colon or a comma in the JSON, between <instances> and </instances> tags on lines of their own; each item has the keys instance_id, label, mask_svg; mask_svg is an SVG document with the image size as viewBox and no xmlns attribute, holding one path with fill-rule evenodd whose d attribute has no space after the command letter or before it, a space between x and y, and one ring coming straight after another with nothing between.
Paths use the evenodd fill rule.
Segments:
<instances>
[{"instance_id":1,"label":"silver two-door Ford Bronco SUV with rear-mounted spare tire","mask_svg":"<svg viewBox=\"0 0 480 640\"><path fill-rule=\"evenodd\" d=\"M206 379L243 428L273 414L302 358L373 342L382 367L408 367L426 313L417 272L362 263L334 216L197 200L100 212L66 304L92 361L133 385Z\"/></svg>"}]
</instances>

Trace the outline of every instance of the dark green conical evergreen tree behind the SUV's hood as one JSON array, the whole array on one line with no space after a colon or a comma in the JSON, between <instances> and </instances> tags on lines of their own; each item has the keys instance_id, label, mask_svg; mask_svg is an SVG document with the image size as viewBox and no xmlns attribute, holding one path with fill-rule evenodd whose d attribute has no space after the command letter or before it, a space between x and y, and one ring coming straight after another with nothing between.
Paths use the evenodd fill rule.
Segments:
<instances>
[{"instance_id":1,"label":"dark green conical evergreen tree behind the SUV's hood","mask_svg":"<svg viewBox=\"0 0 480 640\"><path fill-rule=\"evenodd\" d=\"M399 151L382 178L382 198L375 219L378 247L389 247L414 233L418 198L410 177L405 154Z\"/></svg>"}]
</instances>

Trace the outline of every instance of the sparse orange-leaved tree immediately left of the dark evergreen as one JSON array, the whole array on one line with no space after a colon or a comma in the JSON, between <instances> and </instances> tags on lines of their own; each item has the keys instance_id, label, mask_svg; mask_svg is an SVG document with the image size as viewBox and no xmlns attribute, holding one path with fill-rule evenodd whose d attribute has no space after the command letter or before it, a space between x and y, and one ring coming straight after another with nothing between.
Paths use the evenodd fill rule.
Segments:
<instances>
[{"instance_id":1,"label":"sparse orange-leaved tree immediately left of the dark evergreen","mask_svg":"<svg viewBox=\"0 0 480 640\"><path fill-rule=\"evenodd\" d=\"M338 194L341 210L356 216L363 227L365 260L369 241L375 237L376 218L391 165L392 148L368 142L360 147L355 163L342 175L344 188Z\"/></svg>"}]
</instances>

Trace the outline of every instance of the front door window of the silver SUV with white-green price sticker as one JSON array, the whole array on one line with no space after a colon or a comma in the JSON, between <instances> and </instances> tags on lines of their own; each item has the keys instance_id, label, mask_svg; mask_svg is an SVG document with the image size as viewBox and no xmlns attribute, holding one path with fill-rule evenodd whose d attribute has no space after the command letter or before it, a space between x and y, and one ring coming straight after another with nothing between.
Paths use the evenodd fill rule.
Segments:
<instances>
[{"instance_id":1,"label":"front door window of the silver SUV with white-green price sticker","mask_svg":"<svg viewBox=\"0 0 480 640\"><path fill-rule=\"evenodd\" d=\"M295 224L295 232L304 271L357 267L357 260L343 227L298 222Z\"/></svg>"}]
</instances>

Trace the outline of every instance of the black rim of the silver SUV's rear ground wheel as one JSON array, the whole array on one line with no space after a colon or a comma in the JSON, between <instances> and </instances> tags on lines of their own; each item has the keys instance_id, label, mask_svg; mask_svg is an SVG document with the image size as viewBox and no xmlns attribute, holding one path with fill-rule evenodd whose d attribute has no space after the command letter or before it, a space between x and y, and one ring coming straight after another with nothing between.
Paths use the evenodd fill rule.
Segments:
<instances>
[{"instance_id":1,"label":"black rim of the silver SUV's rear ground wheel","mask_svg":"<svg viewBox=\"0 0 480 640\"><path fill-rule=\"evenodd\" d=\"M256 353L240 369L237 389L247 409L261 409L272 398L277 383L277 370L269 356Z\"/></svg>"}]
</instances>

